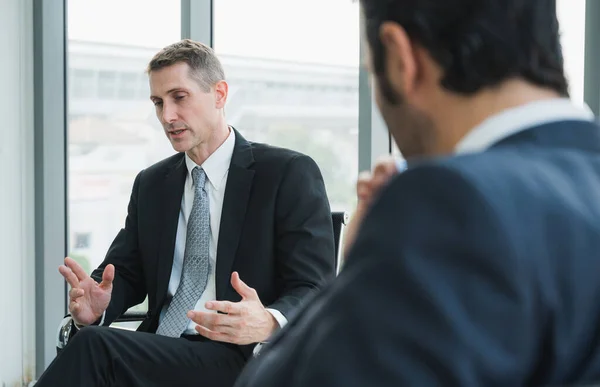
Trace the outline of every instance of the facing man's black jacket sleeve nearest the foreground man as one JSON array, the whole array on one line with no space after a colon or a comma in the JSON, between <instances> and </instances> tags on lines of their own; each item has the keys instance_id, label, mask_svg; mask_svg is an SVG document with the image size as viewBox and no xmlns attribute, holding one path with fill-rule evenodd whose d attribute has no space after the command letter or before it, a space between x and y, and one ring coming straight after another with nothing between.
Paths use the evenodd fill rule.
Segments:
<instances>
[{"instance_id":1,"label":"facing man's black jacket sleeve nearest the foreground man","mask_svg":"<svg viewBox=\"0 0 600 387\"><path fill-rule=\"evenodd\" d=\"M335 275L329 200L317 164L295 156L287 165L276 202L277 288L269 308L288 320L301 301Z\"/></svg>"}]
</instances>

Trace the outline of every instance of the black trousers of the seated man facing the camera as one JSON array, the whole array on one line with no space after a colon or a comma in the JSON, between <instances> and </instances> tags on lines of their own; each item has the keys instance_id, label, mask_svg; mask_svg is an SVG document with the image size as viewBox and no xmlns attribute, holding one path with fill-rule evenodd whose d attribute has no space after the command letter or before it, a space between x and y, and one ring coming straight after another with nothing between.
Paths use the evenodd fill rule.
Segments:
<instances>
[{"instance_id":1,"label":"black trousers of the seated man facing the camera","mask_svg":"<svg viewBox=\"0 0 600 387\"><path fill-rule=\"evenodd\" d=\"M231 344L90 326L69 341L36 387L230 387L245 363Z\"/></svg>"}]
</instances>

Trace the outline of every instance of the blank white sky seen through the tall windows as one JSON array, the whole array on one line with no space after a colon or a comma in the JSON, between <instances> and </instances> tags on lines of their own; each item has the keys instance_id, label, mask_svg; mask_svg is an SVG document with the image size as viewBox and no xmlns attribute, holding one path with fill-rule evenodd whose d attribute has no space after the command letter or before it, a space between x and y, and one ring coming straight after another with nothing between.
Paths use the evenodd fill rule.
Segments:
<instances>
[{"instance_id":1,"label":"blank white sky seen through the tall windows","mask_svg":"<svg viewBox=\"0 0 600 387\"><path fill-rule=\"evenodd\" d=\"M565 68L583 101L586 0L558 0ZM214 0L217 54L358 66L353 0ZM69 38L161 48L179 40L180 0L68 0Z\"/></svg>"}]
</instances>

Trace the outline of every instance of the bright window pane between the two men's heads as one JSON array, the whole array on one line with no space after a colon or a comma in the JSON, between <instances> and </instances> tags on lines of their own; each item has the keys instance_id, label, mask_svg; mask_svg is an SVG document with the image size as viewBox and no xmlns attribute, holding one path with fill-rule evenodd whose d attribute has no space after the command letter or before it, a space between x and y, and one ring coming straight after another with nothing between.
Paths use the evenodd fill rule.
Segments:
<instances>
[{"instance_id":1,"label":"bright window pane between the two men's heads","mask_svg":"<svg viewBox=\"0 0 600 387\"><path fill-rule=\"evenodd\" d=\"M353 209L358 2L215 0L214 7L214 46L230 84L229 123L249 140L311 156L332 209Z\"/></svg>"}]
</instances>

